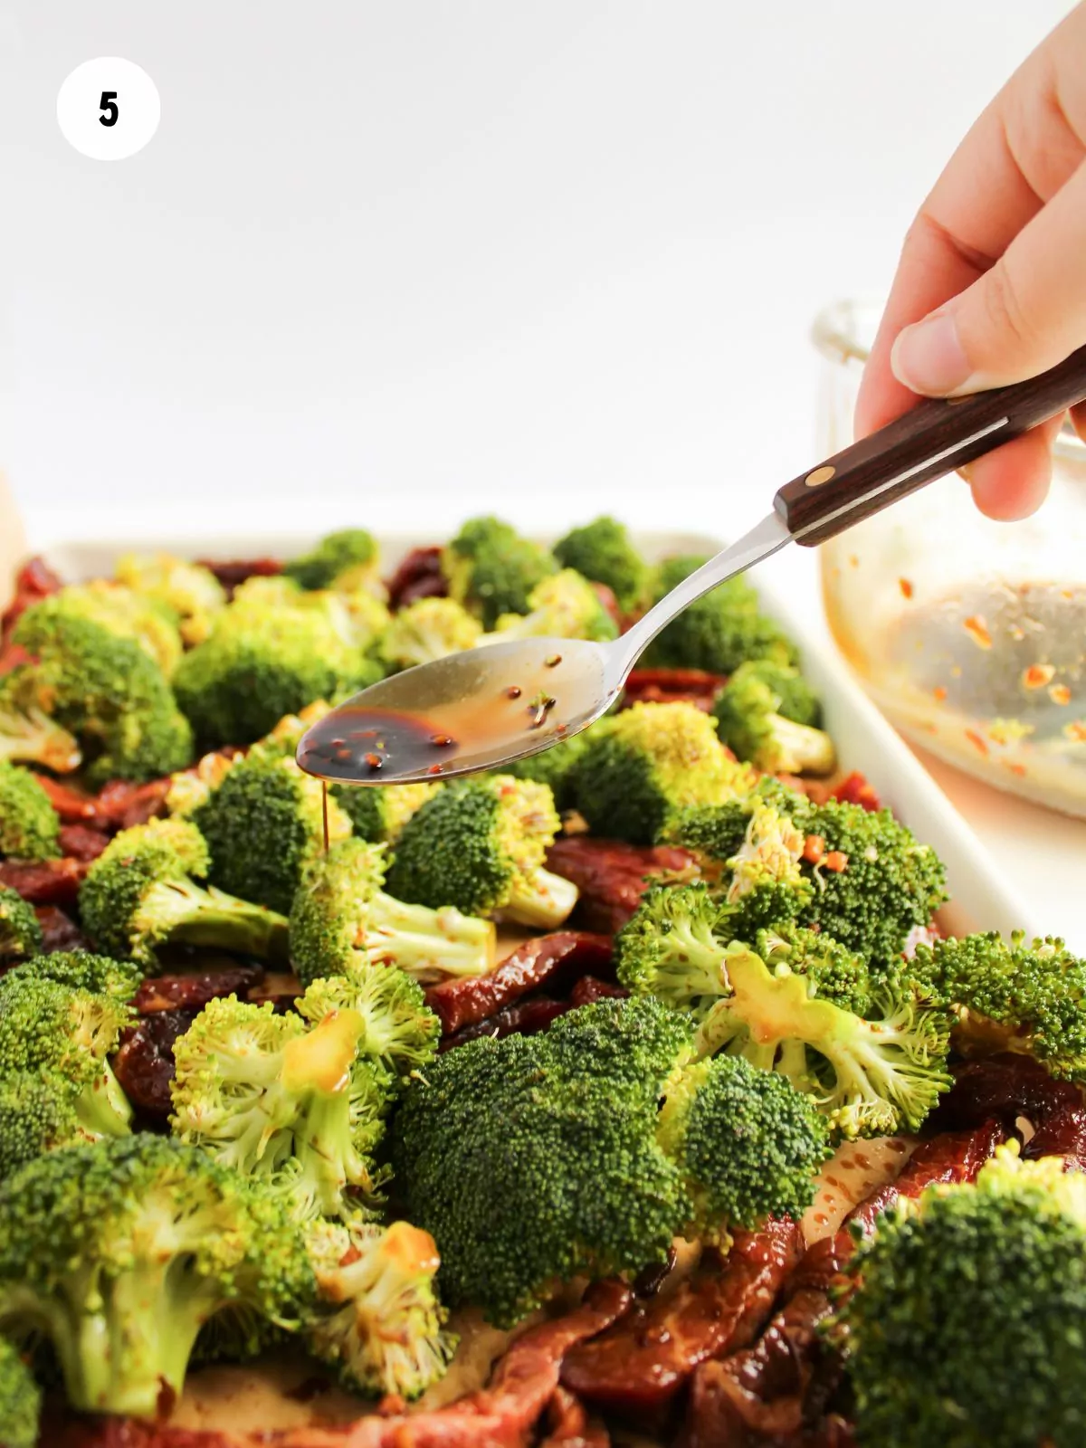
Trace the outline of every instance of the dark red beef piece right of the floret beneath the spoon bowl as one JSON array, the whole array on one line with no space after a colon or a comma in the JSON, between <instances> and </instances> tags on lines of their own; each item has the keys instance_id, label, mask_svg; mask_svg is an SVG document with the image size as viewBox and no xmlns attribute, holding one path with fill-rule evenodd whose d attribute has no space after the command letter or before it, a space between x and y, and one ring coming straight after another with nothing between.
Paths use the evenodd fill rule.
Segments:
<instances>
[{"instance_id":1,"label":"dark red beef piece right of the floret beneath the spoon bowl","mask_svg":"<svg viewBox=\"0 0 1086 1448\"><path fill-rule=\"evenodd\" d=\"M547 869L572 880L581 892L575 911L579 924L614 935L654 880L694 879L698 864L689 850L675 846L641 847L573 834L555 840Z\"/></svg>"}]
</instances>

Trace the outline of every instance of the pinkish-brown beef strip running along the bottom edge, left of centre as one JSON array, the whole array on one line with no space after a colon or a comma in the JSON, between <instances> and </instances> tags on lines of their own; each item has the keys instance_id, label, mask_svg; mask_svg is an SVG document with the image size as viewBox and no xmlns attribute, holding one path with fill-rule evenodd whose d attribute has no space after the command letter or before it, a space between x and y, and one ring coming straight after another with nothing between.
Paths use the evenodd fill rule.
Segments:
<instances>
[{"instance_id":1,"label":"pinkish-brown beef strip running along the bottom edge, left of centre","mask_svg":"<svg viewBox=\"0 0 1086 1448\"><path fill-rule=\"evenodd\" d=\"M275 1448L523 1448L559 1389L563 1357L617 1322L631 1299L626 1283L594 1283L573 1312L518 1337L488 1387L437 1412L362 1418L346 1428L300 1428L268 1442Z\"/></svg>"}]
</instances>

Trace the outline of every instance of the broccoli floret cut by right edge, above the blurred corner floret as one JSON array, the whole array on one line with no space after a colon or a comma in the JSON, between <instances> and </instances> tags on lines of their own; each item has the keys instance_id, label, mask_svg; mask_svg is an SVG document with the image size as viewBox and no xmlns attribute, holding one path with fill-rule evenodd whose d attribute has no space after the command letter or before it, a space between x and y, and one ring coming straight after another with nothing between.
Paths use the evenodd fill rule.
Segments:
<instances>
[{"instance_id":1,"label":"broccoli floret cut by right edge, above the blurred corner floret","mask_svg":"<svg viewBox=\"0 0 1086 1448\"><path fill-rule=\"evenodd\" d=\"M909 970L951 1008L956 1034L1027 1051L1053 1076L1086 1082L1086 961L1051 935L996 931L917 947Z\"/></svg>"}]
</instances>

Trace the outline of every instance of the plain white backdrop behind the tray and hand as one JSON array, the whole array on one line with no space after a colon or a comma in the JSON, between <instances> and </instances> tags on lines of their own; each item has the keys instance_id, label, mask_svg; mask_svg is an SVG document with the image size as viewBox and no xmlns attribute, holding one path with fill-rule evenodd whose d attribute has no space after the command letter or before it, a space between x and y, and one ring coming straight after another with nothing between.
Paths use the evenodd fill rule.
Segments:
<instances>
[{"instance_id":1,"label":"plain white backdrop behind the tray and hand","mask_svg":"<svg viewBox=\"0 0 1086 1448\"><path fill-rule=\"evenodd\" d=\"M0 462L32 533L485 507L741 530L814 460L812 314L886 287L1067 9L9 4ZM97 55L162 98L123 162L56 127ZM776 575L817 607L809 557Z\"/></svg>"}]
</instances>

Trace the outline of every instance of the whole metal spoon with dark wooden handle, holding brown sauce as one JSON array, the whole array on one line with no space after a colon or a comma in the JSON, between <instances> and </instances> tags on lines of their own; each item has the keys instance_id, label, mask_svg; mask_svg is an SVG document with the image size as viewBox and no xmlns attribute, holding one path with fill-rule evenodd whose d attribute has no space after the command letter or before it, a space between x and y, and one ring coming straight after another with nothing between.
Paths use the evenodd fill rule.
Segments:
<instances>
[{"instance_id":1,"label":"whole metal spoon with dark wooden handle, holding brown sauce","mask_svg":"<svg viewBox=\"0 0 1086 1448\"><path fill-rule=\"evenodd\" d=\"M327 780L390 785L497 769L550 749L607 712L656 634L702 594L786 543L811 547L843 533L1085 398L1082 348L1028 382L922 401L780 488L769 517L621 639L488 643L395 673L314 724L298 765Z\"/></svg>"}]
</instances>

